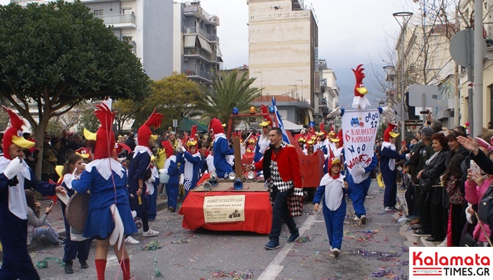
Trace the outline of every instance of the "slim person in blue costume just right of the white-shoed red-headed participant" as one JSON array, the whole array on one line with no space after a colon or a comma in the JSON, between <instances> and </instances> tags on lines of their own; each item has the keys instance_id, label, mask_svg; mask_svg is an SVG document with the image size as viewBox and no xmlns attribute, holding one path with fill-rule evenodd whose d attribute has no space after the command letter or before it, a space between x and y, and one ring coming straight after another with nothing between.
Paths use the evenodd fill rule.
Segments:
<instances>
[{"instance_id":1,"label":"slim person in blue costume just right of the white-shoed red-headed participant","mask_svg":"<svg viewBox=\"0 0 493 280\"><path fill-rule=\"evenodd\" d=\"M175 212L176 200L178 199L178 190L180 190L180 171L178 170L178 161L174 154L173 145L169 141L161 142L166 150L166 162L164 162L164 172L166 172L170 179L166 183L166 196L168 197L168 210Z\"/></svg>"}]
</instances>

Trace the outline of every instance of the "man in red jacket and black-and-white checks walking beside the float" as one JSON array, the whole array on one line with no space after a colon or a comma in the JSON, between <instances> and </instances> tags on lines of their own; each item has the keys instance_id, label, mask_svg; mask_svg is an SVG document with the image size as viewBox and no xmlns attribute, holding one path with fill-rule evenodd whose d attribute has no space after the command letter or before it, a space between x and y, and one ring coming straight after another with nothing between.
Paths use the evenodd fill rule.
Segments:
<instances>
[{"instance_id":1,"label":"man in red jacket and black-and-white checks walking beside the float","mask_svg":"<svg viewBox=\"0 0 493 280\"><path fill-rule=\"evenodd\" d=\"M282 130L271 128L269 131L270 147L264 152L263 159L251 170L263 170L263 176L269 184L274 202L272 213L272 229L269 234L269 243L264 248L273 250L279 248L282 220L285 221L291 236L287 243L294 243L299 238L299 231L294 219L289 213L287 199L294 191L295 195L303 195L301 189L301 172L296 148L282 141Z\"/></svg>"}]
</instances>

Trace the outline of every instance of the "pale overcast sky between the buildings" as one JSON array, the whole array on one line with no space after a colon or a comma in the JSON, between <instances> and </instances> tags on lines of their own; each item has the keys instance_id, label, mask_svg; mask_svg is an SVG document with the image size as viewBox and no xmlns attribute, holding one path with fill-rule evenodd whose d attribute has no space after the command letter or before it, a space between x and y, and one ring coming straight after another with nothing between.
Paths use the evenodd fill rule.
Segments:
<instances>
[{"instance_id":1,"label":"pale overcast sky between the buildings","mask_svg":"<svg viewBox=\"0 0 493 280\"><path fill-rule=\"evenodd\" d=\"M175 0L182 1L182 0ZM0 0L8 4L9 0ZM311 0L318 19L318 56L327 60L335 71L342 95L352 98L354 74L351 68L362 63L366 68L363 80L372 91L377 86L372 68L382 75L387 65L386 50L395 44L399 25L392 17L398 11L410 11L411 0ZM207 13L220 18L218 37L225 68L248 64L248 5L246 0L201 0ZM388 61L388 60L387 60ZM376 92L375 92L376 93ZM343 98L344 99L344 98ZM375 103L375 102L373 102Z\"/></svg>"}]
</instances>

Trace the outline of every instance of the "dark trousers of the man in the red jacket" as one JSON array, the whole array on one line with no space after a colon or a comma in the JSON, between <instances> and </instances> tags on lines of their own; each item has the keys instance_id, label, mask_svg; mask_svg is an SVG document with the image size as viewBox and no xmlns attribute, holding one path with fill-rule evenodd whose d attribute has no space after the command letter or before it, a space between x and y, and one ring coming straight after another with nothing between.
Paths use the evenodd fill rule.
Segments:
<instances>
[{"instance_id":1,"label":"dark trousers of the man in the red jacket","mask_svg":"<svg viewBox=\"0 0 493 280\"><path fill-rule=\"evenodd\" d=\"M272 200L274 206L272 209L272 229L270 229L269 239L271 241L279 242L279 236L281 235L282 220L285 221L290 233L297 233L298 228L294 222L291 213L287 207L287 199L289 194L293 192L293 189L280 192L277 188L273 189Z\"/></svg>"}]
</instances>

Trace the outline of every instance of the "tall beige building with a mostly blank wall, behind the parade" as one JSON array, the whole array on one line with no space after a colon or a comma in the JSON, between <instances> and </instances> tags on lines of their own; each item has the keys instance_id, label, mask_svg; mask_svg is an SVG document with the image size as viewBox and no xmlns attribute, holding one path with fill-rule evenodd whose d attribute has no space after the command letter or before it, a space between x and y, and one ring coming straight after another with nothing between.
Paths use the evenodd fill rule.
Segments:
<instances>
[{"instance_id":1,"label":"tall beige building with a mostly blank wall, behind the parade","mask_svg":"<svg viewBox=\"0 0 493 280\"><path fill-rule=\"evenodd\" d=\"M263 95L289 95L306 102L311 106L306 119L312 121L321 99L318 25L313 11L301 0L248 0L247 4L250 78L256 77L253 86L263 87Z\"/></svg>"}]
</instances>

